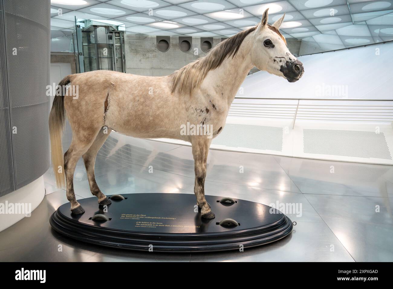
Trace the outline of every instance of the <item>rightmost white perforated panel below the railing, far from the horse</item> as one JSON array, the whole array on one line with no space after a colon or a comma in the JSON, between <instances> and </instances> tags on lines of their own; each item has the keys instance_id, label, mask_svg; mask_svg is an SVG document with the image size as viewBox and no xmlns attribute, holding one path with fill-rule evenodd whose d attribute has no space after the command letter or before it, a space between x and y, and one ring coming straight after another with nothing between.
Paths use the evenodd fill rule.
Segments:
<instances>
[{"instance_id":1,"label":"rightmost white perforated panel below the railing, far from the horse","mask_svg":"<svg viewBox=\"0 0 393 289\"><path fill-rule=\"evenodd\" d=\"M373 131L303 129L303 152L391 160L385 135Z\"/></svg>"}]
</instances>

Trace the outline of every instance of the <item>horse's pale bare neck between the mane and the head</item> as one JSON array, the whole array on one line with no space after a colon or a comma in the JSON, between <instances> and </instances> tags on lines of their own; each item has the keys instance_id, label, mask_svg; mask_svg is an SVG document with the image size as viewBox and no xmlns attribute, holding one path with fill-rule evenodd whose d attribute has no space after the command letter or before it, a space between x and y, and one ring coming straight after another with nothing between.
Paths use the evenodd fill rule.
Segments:
<instances>
[{"instance_id":1,"label":"horse's pale bare neck between the mane and the head","mask_svg":"<svg viewBox=\"0 0 393 289\"><path fill-rule=\"evenodd\" d=\"M228 100L228 107L230 107L248 72L254 66L251 61L252 34L250 33L243 40L235 57L227 57L214 70L214 75L210 78L214 83L215 90Z\"/></svg>"}]
</instances>

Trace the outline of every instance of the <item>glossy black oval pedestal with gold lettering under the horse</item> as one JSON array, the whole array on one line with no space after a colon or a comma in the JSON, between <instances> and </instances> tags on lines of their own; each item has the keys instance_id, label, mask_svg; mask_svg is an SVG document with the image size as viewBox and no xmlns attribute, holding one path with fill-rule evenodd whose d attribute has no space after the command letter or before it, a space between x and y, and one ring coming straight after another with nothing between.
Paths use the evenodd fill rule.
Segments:
<instances>
[{"instance_id":1,"label":"glossy black oval pedestal with gold lettering under the horse","mask_svg":"<svg viewBox=\"0 0 393 289\"><path fill-rule=\"evenodd\" d=\"M216 217L203 219L200 209L195 212L195 195L134 193L123 197L112 199L107 208L96 197L78 200L85 210L81 215L73 215L70 204L63 204L50 224L57 232L83 242L143 251L152 248L154 252L239 250L277 241L292 231L288 217L256 202L220 203L223 197L206 195ZM92 220L96 214L108 220ZM238 225L219 225L228 218Z\"/></svg>"}]
</instances>

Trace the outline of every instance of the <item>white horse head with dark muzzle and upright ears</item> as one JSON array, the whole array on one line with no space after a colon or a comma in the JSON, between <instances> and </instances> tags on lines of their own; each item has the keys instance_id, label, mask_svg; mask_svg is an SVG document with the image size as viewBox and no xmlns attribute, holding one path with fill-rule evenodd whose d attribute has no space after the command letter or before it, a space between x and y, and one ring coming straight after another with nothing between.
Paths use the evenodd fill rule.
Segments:
<instances>
[{"instance_id":1,"label":"white horse head with dark muzzle and upright ears","mask_svg":"<svg viewBox=\"0 0 393 289\"><path fill-rule=\"evenodd\" d=\"M255 30L255 40L251 50L253 64L260 70L285 77L289 82L298 81L303 75L303 64L289 52L286 40L279 32L283 17L268 24L268 9Z\"/></svg>"}]
</instances>

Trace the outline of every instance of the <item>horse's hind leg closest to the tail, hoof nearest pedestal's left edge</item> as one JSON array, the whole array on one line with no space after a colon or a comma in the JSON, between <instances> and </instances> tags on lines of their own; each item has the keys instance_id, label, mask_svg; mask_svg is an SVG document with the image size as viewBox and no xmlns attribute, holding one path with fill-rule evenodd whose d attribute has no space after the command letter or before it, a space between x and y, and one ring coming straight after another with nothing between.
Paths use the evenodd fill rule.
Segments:
<instances>
[{"instance_id":1,"label":"horse's hind leg closest to the tail, hoof nearest pedestal's left edge","mask_svg":"<svg viewBox=\"0 0 393 289\"><path fill-rule=\"evenodd\" d=\"M73 190L73 175L75 166L79 158L86 153L88 148L95 140L98 129L79 128L78 131L73 130L72 142L66 153L64 154L64 173L67 181L67 199L71 203L71 212L73 214L83 214L84 209L75 199Z\"/></svg>"}]
</instances>

